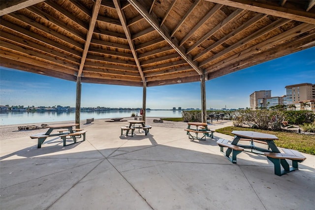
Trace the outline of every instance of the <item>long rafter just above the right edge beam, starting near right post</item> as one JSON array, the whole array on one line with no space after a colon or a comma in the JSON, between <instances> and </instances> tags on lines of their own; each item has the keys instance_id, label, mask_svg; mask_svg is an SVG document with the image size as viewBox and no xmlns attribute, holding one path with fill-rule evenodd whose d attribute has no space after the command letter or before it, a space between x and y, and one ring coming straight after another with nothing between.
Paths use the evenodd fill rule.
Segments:
<instances>
[{"instance_id":1,"label":"long rafter just above the right edge beam, starting near right post","mask_svg":"<svg viewBox=\"0 0 315 210\"><path fill-rule=\"evenodd\" d=\"M284 31L283 33L280 33L270 39L267 39L261 43L258 43L254 46L252 46L251 48L248 48L240 53L237 53L236 55L234 56L231 56L223 61L220 61L219 63L216 63L210 67L208 67L206 69L206 72L209 73L210 71L216 71L216 70L219 70L221 68L223 68L223 66L226 66L230 63L234 63L236 62L237 60L243 60L249 56L252 56L252 55L260 55L261 52L264 52L266 51L267 49L269 48L276 48L277 47L273 47L274 45L276 45L277 43L282 43L284 42L285 40L289 40L295 36L298 36L300 34L303 34L309 30L313 30L315 29L315 25L310 25L310 24L306 24L306 23L303 23L303 24L300 24L290 30L287 30L287 31Z\"/></svg>"}]
</instances>

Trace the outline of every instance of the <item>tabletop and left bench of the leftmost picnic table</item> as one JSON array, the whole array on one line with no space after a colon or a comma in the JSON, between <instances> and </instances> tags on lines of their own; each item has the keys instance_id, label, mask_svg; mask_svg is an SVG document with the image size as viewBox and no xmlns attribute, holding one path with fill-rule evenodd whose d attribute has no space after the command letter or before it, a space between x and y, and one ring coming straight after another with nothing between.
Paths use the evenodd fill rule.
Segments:
<instances>
[{"instance_id":1,"label":"tabletop and left bench of the leftmost picnic table","mask_svg":"<svg viewBox=\"0 0 315 210\"><path fill-rule=\"evenodd\" d=\"M78 123L75 124L58 124L58 125L48 125L47 127L49 128L46 133L39 133L39 134L35 134L30 136L32 139L38 139L37 142L37 148L41 148L41 145L44 143L44 141L48 138L48 137L52 137L52 136L60 136L60 135L64 135L64 134L69 134L69 133L73 133L73 126L77 126L79 125ZM67 129L68 132L64 132L64 133L54 133L52 134L53 130L55 129Z\"/></svg>"}]
</instances>

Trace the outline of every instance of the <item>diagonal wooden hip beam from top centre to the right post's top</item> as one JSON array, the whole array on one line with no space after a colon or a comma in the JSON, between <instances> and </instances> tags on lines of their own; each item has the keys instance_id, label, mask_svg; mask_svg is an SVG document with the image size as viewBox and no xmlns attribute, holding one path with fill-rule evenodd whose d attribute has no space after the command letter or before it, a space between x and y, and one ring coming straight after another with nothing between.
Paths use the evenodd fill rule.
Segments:
<instances>
[{"instance_id":1,"label":"diagonal wooden hip beam from top centre to the right post's top","mask_svg":"<svg viewBox=\"0 0 315 210\"><path fill-rule=\"evenodd\" d=\"M186 56L185 49L180 48L178 45L178 42L176 43L175 41L173 41L175 38L171 38L169 36L169 31L167 31L166 27L164 28L159 27L157 18L154 18L153 16L154 13L152 12L152 15L150 15L148 11L146 11L146 9L138 1L135 1L135 0L128 0L128 1L148 21L148 23L155 30L158 31L158 33L168 42L168 44L170 44L182 56L182 58L186 60L189 63L189 65L191 65L191 67L195 69L201 75L202 70L199 69L197 64L193 62L189 56Z\"/></svg>"}]
</instances>

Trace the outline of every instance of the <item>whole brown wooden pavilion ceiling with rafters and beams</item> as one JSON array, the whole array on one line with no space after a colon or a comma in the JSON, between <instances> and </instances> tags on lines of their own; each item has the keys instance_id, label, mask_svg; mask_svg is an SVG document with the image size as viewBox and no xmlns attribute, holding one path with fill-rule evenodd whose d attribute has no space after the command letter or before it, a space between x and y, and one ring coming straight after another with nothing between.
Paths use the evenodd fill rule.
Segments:
<instances>
[{"instance_id":1,"label":"whole brown wooden pavilion ceiling with rafters and beams","mask_svg":"<svg viewBox=\"0 0 315 210\"><path fill-rule=\"evenodd\" d=\"M0 65L71 81L195 82L313 46L315 0L0 1Z\"/></svg>"}]
</instances>

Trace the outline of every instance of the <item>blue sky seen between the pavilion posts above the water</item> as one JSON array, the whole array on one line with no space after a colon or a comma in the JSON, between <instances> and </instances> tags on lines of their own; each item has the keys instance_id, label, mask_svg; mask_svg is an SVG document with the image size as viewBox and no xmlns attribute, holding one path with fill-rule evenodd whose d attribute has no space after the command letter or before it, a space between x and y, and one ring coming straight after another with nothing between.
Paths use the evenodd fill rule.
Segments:
<instances>
[{"instance_id":1,"label":"blue sky seen between the pavilion posts above the water","mask_svg":"<svg viewBox=\"0 0 315 210\"><path fill-rule=\"evenodd\" d=\"M246 108L254 91L315 84L315 47L206 82L207 109ZM0 105L75 107L76 83L0 67ZM82 83L81 107L142 107L142 88ZM147 108L201 108L200 82L147 88Z\"/></svg>"}]
</instances>

